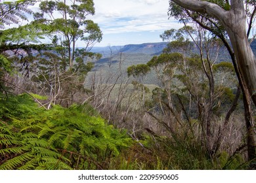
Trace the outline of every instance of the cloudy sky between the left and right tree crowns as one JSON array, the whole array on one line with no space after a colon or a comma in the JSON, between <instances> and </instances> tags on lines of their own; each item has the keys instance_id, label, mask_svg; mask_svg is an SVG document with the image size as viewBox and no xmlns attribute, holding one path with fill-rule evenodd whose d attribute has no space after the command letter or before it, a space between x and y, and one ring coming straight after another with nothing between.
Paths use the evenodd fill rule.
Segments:
<instances>
[{"instance_id":1,"label":"cloudy sky between the left and right tree crowns","mask_svg":"<svg viewBox=\"0 0 256 183\"><path fill-rule=\"evenodd\" d=\"M168 20L168 0L94 0L102 42L95 46L121 46L161 42L160 34L182 24Z\"/></svg>"}]
</instances>

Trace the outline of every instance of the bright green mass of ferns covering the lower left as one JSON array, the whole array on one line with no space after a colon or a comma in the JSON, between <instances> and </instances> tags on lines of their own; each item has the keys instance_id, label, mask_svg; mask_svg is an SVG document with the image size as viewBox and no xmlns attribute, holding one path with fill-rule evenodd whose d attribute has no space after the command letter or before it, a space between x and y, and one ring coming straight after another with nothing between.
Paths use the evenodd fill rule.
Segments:
<instances>
[{"instance_id":1,"label":"bright green mass of ferns covering the lower left","mask_svg":"<svg viewBox=\"0 0 256 183\"><path fill-rule=\"evenodd\" d=\"M104 169L131 144L89 105L44 110L25 94L0 104L0 169Z\"/></svg>"}]
</instances>

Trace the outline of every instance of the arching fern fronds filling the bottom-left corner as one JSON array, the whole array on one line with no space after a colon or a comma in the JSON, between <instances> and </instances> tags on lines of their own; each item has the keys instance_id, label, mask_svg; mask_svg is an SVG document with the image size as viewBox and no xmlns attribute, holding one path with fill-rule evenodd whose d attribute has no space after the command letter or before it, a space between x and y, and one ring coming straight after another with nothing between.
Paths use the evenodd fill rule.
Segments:
<instances>
[{"instance_id":1,"label":"arching fern fronds filling the bottom-left corner","mask_svg":"<svg viewBox=\"0 0 256 183\"><path fill-rule=\"evenodd\" d=\"M69 162L45 139L38 139L35 134L13 133L13 135L15 135L14 138L9 138L12 141L8 142L8 146L2 146L0 149L0 169L37 169L39 165L45 163L43 158L56 159L61 162L62 167L63 163ZM1 144L5 144L3 137L1 135ZM62 169L58 165L56 168Z\"/></svg>"}]
</instances>

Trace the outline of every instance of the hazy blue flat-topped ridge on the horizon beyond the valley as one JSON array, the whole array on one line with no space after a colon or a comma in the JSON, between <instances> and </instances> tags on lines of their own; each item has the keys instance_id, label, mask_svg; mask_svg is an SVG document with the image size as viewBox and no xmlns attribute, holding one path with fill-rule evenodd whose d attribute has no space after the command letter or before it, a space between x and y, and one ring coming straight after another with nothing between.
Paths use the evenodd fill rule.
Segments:
<instances>
[{"instance_id":1,"label":"hazy blue flat-topped ridge on the horizon beyond the valley","mask_svg":"<svg viewBox=\"0 0 256 183\"><path fill-rule=\"evenodd\" d=\"M159 56L163 52L163 49L166 48L167 44L167 42L156 42L127 44L125 46L95 47L91 51L102 54L102 58L95 62L95 67L92 72L103 73L102 75L106 73L107 75L108 71L115 72L119 71L121 68L123 75L127 76L126 71L129 66L148 63L153 56ZM256 54L256 41L251 43L251 48L253 48L253 52ZM196 52L196 50L194 51ZM215 58L215 56L213 56L213 58ZM217 62L221 61L231 61L230 55L224 46L219 50ZM158 80L154 74L150 74L145 78L144 83L158 84Z\"/></svg>"}]
</instances>

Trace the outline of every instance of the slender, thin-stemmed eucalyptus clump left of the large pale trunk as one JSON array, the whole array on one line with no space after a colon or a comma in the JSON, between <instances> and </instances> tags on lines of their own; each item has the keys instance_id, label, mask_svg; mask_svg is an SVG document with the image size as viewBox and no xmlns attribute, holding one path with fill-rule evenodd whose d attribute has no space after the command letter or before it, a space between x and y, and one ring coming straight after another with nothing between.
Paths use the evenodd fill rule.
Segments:
<instances>
[{"instance_id":1,"label":"slender, thin-stemmed eucalyptus clump left of the large pale trunk","mask_svg":"<svg viewBox=\"0 0 256 183\"><path fill-rule=\"evenodd\" d=\"M172 136L182 137L186 131L194 139L200 139L207 155L213 158L222 141L219 139L223 137L216 135L217 129L224 124L219 116L226 110L230 111L226 118L232 114L230 100L235 97L231 88L236 86L232 63L217 64L222 44L196 24L167 30L160 37L169 44L163 54L147 63L160 81L153 99L155 108L161 113L154 115L159 119L164 116L165 120L160 122L164 121ZM224 79L218 81L217 78Z\"/></svg>"}]
</instances>

